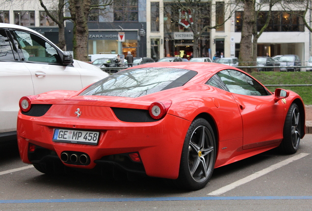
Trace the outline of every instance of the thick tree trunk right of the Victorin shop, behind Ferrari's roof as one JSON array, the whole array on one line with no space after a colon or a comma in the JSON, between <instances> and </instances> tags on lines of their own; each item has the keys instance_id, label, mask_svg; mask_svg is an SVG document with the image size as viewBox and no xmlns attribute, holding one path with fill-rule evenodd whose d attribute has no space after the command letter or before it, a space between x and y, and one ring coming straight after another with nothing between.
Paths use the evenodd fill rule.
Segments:
<instances>
[{"instance_id":1,"label":"thick tree trunk right of the Victorin shop, behind Ferrari's roof","mask_svg":"<svg viewBox=\"0 0 312 211\"><path fill-rule=\"evenodd\" d=\"M253 27L256 23L255 20L255 1L245 0L244 1L244 14L243 14L243 25L241 30L240 50L239 50L239 61L241 66L250 66L253 61ZM250 70L247 70L249 72Z\"/></svg>"}]
</instances>

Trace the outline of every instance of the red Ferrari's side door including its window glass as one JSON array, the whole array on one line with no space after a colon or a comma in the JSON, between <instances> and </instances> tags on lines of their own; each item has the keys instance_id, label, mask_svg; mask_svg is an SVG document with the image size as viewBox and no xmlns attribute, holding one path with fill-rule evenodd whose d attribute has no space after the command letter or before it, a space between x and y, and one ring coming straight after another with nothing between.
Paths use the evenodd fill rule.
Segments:
<instances>
[{"instance_id":1,"label":"red Ferrari's side door including its window glass","mask_svg":"<svg viewBox=\"0 0 312 211\"><path fill-rule=\"evenodd\" d=\"M274 101L256 80L237 70L217 73L238 105L243 121L243 149L281 141L286 115L283 101Z\"/></svg>"}]
</instances>

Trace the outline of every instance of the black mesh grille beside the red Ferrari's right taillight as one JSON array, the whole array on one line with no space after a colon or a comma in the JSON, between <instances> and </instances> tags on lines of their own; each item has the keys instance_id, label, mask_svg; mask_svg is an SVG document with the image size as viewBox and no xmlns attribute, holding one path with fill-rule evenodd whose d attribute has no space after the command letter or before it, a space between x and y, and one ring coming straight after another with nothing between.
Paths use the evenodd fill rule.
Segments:
<instances>
[{"instance_id":1,"label":"black mesh grille beside the red Ferrari's right taillight","mask_svg":"<svg viewBox=\"0 0 312 211\"><path fill-rule=\"evenodd\" d=\"M148 110L112 107L116 117L124 122L156 122Z\"/></svg>"}]
</instances>

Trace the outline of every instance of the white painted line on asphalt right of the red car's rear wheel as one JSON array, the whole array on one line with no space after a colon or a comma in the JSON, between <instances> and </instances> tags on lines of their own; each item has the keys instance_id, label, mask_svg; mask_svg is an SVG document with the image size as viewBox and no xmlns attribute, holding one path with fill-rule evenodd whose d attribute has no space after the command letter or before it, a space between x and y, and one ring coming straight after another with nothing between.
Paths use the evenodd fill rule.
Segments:
<instances>
[{"instance_id":1,"label":"white painted line on asphalt right of the red car's rear wheel","mask_svg":"<svg viewBox=\"0 0 312 211\"><path fill-rule=\"evenodd\" d=\"M274 164L274 165L272 165L272 166L270 166L270 167L268 167L266 169L262 169L262 170L260 170L260 171L258 171L256 173L254 173L254 174L251 174L251 175L249 175L249 176L247 176L247 177L245 177L243 179L240 179L240 180L238 180L238 181L236 181L236 182L234 182L234 183L232 183L230 185L224 186L224 187L222 187L222 188L220 188L218 190L214 190L214 191L208 193L207 195L220 195L220 194L225 193L225 192L227 192L229 190L232 190L232 189L234 189L234 188L236 188L236 187L238 187L240 185L243 185L243 184L248 183L248 182L250 182L250 181L252 181L254 179L257 179L258 177L263 176L264 174L267 174L267 173L269 173L269 172L271 172L271 171L273 171L275 169L279 169L279 168L281 168L283 166L286 166L287 164L289 164L289 163L291 163L293 161L296 161L296 160L298 160L300 158L303 158L303 157L305 157L307 155L309 155L309 153L300 153L300 154L295 155L295 156L293 156L291 158L288 158L288 159L286 159L284 161L281 161L281 162L279 162L277 164Z\"/></svg>"}]
</instances>

